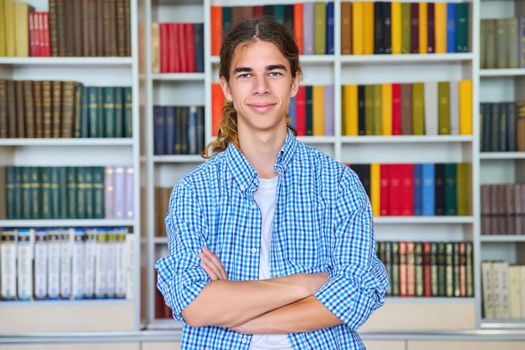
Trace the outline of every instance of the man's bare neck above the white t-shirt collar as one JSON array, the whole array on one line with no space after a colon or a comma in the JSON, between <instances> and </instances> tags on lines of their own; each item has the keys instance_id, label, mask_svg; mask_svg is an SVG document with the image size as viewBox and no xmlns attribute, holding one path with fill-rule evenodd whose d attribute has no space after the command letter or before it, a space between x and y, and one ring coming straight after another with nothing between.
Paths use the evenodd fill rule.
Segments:
<instances>
[{"instance_id":1,"label":"man's bare neck above the white t-shirt collar","mask_svg":"<svg viewBox=\"0 0 525 350\"><path fill-rule=\"evenodd\" d=\"M288 132L286 125L279 128L277 132L275 130L257 133L250 131L241 129L239 125L238 135L242 153L259 177L271 179L277 176L274 167L279 151L286 140Z\"/></svg>"}]
</instances>

